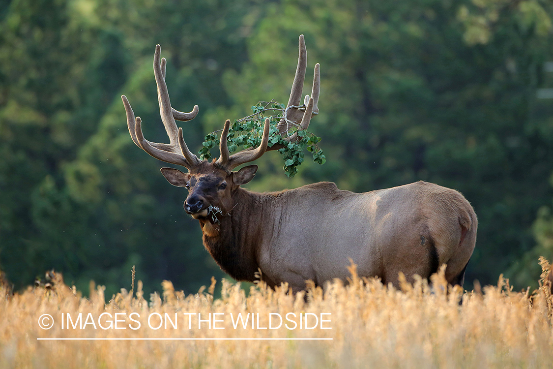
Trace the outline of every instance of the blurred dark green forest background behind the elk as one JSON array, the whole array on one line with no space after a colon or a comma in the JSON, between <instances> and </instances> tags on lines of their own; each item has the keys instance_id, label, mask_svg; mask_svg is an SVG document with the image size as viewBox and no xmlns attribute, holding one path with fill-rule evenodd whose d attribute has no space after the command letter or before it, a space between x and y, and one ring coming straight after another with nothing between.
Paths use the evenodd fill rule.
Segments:
<instances>
[{"instance_id":1,"label":"blurred dark green forest background behind the elk","mask_svg":"<svg viewBox=\"0 0 553 369\"><path fill-rule=\"evenodd\" d=\"M539 0L0 0L0 269L16 288L55 268L108 295L133 265L146 292L220 278L186 191L131 141L121 95L168 141L161 44L173 106L200 106L180 123L197 152L225 119L288 100L304 34L327 162L289 179L269 153L248 188L457 189L479 217L465 287L500 273L535 286L538 256L553 258L552 17Z\"/></svg>"}]
</instances>

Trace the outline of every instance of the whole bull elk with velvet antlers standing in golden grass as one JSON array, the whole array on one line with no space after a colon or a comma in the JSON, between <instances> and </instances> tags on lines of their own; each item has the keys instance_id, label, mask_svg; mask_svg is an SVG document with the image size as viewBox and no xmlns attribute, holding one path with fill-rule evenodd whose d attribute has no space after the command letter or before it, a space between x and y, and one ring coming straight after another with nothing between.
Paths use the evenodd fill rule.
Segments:
<instances>
[{"instance_id":1,"label":"whole bull elk with velvet antlers standing in golden grass","mask_svg":"<svg viewBox=\"0 0 553 369\"><path fill-rule=\"evenodd\" d=\"M321 285L326 280L349 276L352 259L359 276L379 277L398 284L398 273L408 278L428 278L447 263L450 284L463 284L465 269L476 242L477 219L469 202L457 191L419 181L389 189L357 194L339 190L334 183L320 182L293 190L254 193L241 185L252 180L257 165L232 171L253 162L268 147L269 119L257 148L230 154L227 135L230 121L221 133L217 160L200 160L187 147L175 119L189 121L190 113L171 107L165 84L165 58L157 45L154 75L158 86L161 120L170 143L144 138L140 118L127 98L122 100L134 143L154 158L182 165L188 171L161 168L170 184L184 187L185 211L199 220L206 250L221 269L234 279L253 281L258 269L271 287L288 282L294 291L305 289L306 280ZM307 65L304 37L299 39L299 60L288 101L290 121L301 129L319 112L320 73L315 73L311 97L300 106ZM287 141L285 121L279 132Z\"/></svg>"}]
</instances>

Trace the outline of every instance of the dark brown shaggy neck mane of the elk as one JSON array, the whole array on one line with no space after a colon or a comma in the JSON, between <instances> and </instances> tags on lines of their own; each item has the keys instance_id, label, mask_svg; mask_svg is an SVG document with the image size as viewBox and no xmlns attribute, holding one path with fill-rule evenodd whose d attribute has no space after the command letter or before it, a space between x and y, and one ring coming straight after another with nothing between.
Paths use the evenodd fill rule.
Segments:
<instances>
[{"instance_id":1,"label":"dark brown shaggy neck mane of the elk","mask_svg":"<svg viewBox=\"0 0 553 369\"><path fill-rule=\"evenodd\" d=\"M253 282L259 267L255 247L262 237L261 196L238 188L232 197L234 208L219 217L220 224L200 221L204 246L229 276Z\"/></svg>"}]
</instances>

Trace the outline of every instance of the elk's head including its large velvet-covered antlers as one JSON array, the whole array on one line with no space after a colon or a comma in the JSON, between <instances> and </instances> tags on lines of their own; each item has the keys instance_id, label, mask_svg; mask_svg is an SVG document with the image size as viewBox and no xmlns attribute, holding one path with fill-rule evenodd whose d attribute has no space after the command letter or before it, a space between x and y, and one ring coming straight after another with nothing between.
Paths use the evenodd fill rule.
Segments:
<instances>
[{"instance_id":1,"label":"elk's head including its large velvet-covered antlers","mask_svg":"<svg viewBox=\"0 0 553 369\"><path fill-rule=\"evenodd\" d=\"M154 158L167 163L182 165L188 169L188 173L175 168L161 168L161 173L170 184L188 189L189 194L184 202L185 211L195 219L200 220L202 230L208 235L215 233L217 225L223 217L230 214L234 207L233 194L239 186L252 180L257 171L257 165L249 165L238 171L232 171L241 164L253 162L266 151L276 150L282 147L274 144L268 147L269 119L265 119L262 142L257 148L248 148L230 155L227 147L227 136L231 122L227 120L221 133L219 144L221 155L217 160L207 162L200 160L186 145L182 135L182 128L177 128L178 121L190 121L198 113L198 106L189 113L183 113L171 107L169 92L165 84L165 58L161 58L161 48L155 46L154 75L158 85L158 101L161 121L169 136L170 143L154 143L144 138L142 134L140 117L134 117L134 112L127 97L121 96L127 113L127 125L133 142ZM278 123L279 134L285 141L294 142L296 134L288 135L291 125L300 129L307 129L312 116L319 112L317 101L319 100L320 72L319 64L315 65L313 87L311 97L305 96L304 104L300 105L302 87L307 66L307 51L303 35L299 39L298 68L290 92L290 98L285 110L285 118Z\"/></svg>"}]
</instances>

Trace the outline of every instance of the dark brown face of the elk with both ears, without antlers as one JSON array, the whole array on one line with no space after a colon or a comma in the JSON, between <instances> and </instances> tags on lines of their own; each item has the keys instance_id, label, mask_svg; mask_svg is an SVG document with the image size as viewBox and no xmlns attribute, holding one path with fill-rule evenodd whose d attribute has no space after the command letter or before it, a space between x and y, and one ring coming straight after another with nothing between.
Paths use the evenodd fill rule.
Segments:
<instances>
[{"instance_id":1,"label":"dark brown face of the elk with both ears, without antlers","mask_svg":"<svg viewBox=\"0 0 553 369\"><path fill-rule=\"evenodd\" d=\"M238 186L252 180L257 165L249 165L236 172L227 173L212 163L203 162L189 173L174 168L161 168L161 173L174 186L188 190L184 210L194 219L217 221L232 210L232 194Z\"/></svg>"}]
</instances>

